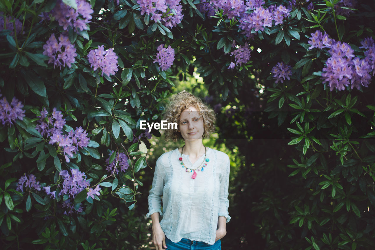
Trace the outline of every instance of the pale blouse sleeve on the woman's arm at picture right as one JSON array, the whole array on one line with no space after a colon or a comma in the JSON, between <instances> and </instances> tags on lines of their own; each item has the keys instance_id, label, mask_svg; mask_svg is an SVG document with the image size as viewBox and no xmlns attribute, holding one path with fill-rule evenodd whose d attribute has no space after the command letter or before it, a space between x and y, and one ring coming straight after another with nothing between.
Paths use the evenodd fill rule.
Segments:
<instances>
[{"instance_id":1,"label":"pale blouse sleeve on the woman's arm at picture right","mask_svg":"<svg viewBox=\"0 0 375 250\"><path fill-rule=\"evenodd\" d=\"M223 173L220 176L220 195L219 195L219 216L224 216L226 218L226 223L229 222L231 217L228 214L229 200L228 200L228 186L229 186L229 157L226 157L226 164L223 166Z\"/></svg>"}]
</instances>

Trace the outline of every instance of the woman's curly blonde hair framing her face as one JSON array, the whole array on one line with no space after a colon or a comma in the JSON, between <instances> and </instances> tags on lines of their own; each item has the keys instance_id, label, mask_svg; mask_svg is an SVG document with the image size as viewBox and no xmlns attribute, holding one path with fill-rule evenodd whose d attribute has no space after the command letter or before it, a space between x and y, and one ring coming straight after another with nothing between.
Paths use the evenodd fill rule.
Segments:
<instances>
[{"instance_id":1,"label":"woman's curly blonde hair framing her face","mask_svg":"<svg viewBox=\"0 0 375 250\"><path fill-rule=\"evenodd\" d=\"M181 112L191 106L195 107L203 117L203 137L209 137L215 131L216 117L214 111L204 104L201 99L183 90L171 97L164 111L163 120L177 123L177 130L165 130L166 139L172 139L177 142L181 137L181 133L178 132Z\"/></svg>"}]
</instances>

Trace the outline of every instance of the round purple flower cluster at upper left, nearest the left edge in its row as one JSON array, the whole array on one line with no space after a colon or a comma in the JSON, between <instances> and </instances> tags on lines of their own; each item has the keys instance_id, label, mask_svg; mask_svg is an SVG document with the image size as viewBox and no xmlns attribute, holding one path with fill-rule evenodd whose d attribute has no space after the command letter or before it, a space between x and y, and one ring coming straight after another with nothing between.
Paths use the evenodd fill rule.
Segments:
<instances>
[{"instance_id":1,"label":"round purple flower cluster at upper left, nearest the left edge in its row","mask_svg":"<svg viewBox=\"0 0 375 250\"><path fill-rule=\"evenodd\" d=\"M55 34L53 33L45 45L43 45L43 55L49 56L48 63L54 63L55 66L71 68L72 63L75 62L75 47L69 41L68 36L60 35L57 41Z\"/></svg>"}]
</instances>

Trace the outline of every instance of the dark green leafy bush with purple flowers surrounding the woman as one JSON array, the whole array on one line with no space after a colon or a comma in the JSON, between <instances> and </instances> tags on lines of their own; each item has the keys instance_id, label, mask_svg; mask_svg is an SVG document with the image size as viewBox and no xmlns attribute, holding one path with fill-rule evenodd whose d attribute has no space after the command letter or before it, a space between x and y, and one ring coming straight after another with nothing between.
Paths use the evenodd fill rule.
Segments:
<instances>
[{"instance_id":1,"label":"dark green leafy bush with purple flowers surrounding the woman","mask_svg":"<svg viewBox=\"0 0 375 250\"><path fill-rule=\"evenodd\" d=\"M1 2L2 241L146 247L136 198L151 134L140 121L159 121L176 76L196 72L220 120L239 127L219 124L219 143L246 155L265 114L281 138L297 135L296 151L280 151L295 171L273 183L288 202L272 182L257 188L252 213L264 220L253 223L267 248L373 247L374 12L354 2ZM254 107L262 98L267 107Z\"/></svg>"}]
</instances>

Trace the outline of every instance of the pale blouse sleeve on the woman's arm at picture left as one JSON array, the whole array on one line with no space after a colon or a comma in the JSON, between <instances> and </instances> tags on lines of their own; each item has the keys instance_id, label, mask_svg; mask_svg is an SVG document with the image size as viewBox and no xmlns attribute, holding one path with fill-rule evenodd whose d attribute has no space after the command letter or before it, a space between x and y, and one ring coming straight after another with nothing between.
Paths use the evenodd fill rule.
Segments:
<instances>
[{"instance_id":1,"label":"pale blouse sleeve on the woman's arm at picture left","mask_svg":"<svg viewBox=\"0 0 375 250\"><path fill-rule=\"evenodd\" d=\"M160 164L160 158L156 161L154 179L152 181L152 188L150 194L148 195L148 214L147 218L150 218L151 214L159 212L160 216L163 216L161 211L161 200L164 188L164 174L162 171L162 166Z\"/></svg>"}]
</instances>

